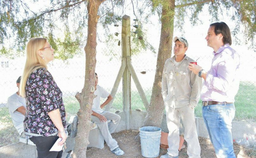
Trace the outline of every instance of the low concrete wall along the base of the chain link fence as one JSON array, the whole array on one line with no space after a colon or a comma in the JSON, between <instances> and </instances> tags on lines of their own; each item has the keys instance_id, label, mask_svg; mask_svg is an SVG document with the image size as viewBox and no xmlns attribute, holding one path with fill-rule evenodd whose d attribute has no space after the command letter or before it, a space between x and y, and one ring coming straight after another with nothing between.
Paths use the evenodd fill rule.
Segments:
<instances>
[{"instance_id":1,"label":"low concrete wall along the base of the chain link fence","mask_svg":"<svg viewBox=\"0 0 256 158\"><path fill-rule=\"evenodd\" d=\"M123 131L126 129L125 125L125 112L117 113L121 116L121 121L116 128L115 132ZM129 111L129 126L131 130L139 130L139 128L143 125L147 112L140 112L140 111ZM197 134L199 137L209 138L207 129L204 125L202 118L196 118L195 120L197 126ZM232 123L232 135L233 139L240 145L252 148L253 145L256 143L256 123ZM168 128L166 125L166 116L164 115L161 129L164 132L168 132ZM180 124L180 134L184 134L184 128L182 125L182 121ZM248 141L247 141L248 139ZM73 150L75 146L75 139L71 139L70 137L66 140L66 151L63 153L62 157L67 156L67 152ZM36 148L32 145L26 145L25 143L14 143L8 146L4 146L0 148L0 157L8 157L8 158L25 158L25 157L36 157Z\"/></svg>"}]
</instances>

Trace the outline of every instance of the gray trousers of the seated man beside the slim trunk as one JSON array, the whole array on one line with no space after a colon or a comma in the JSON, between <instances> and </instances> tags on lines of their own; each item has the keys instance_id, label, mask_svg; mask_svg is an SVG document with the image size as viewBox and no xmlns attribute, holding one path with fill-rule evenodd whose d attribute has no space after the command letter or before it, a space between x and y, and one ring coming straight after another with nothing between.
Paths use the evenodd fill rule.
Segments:
<instances>
[{"instance_id":1,"label":"gray trousers of the seated man beside the slim trunk","mask_svg":"<svg viewBox=\"0 0 256 158\"><path fill-rule=\"evenodd\" d=\"M121 117L117 114L114 114L108 111L104 111L100 114L105 116L107 120L111 120L111 121L109 123L100 122L98 117L92 116L92 115L91 115L91 120L97 124L105 142L109 146L109 149L112 151L116 149L118 145L116 140L112 138L111 134L116 130L116 127L119 124Z\"/></svg>"}]
</instances>

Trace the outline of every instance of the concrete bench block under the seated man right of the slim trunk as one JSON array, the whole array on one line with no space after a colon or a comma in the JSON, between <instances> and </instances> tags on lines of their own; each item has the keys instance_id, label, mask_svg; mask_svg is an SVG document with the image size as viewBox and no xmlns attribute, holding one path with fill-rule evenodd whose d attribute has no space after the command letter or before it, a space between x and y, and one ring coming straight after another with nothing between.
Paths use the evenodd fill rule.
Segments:
<instances>
[{"instance_id":1,"label":"concrete bench block under the seated man right of the slim trunk","mask_svg":"<svg viewBox=\"0 0 256 158\"><path fill-rule=\"evenodd\" d=\"M110 122L110 120L108 120L108 123ZM104 148L104 138L101 135L101 132L98 128L98 126L92 122L91 126L93 126L93 128L90 130L89 132L89 144L87 147L95 147L95 148L99 148L99 149L103 149Z\"/></svg>"}]
</instances>

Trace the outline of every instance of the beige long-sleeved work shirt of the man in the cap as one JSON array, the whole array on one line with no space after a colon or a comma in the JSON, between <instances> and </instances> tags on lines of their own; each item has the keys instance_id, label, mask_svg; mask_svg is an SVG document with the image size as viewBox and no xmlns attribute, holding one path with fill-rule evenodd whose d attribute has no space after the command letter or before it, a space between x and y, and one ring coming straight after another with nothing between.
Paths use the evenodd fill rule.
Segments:
<instances>
[{"instance_id":1,"label":"beige long-sleeved work shirt of the man in the cap","mask_svg":"<svg viewBox=\"0 0 256 158\"><path fill-rule=\"evenodd\" d=\"M188 69L193 59L185 56L176 67L175 56L165 61L162 75L162 96L165 106L195 108L200 98L202 78Z\"/></svg>"}]
</instances>

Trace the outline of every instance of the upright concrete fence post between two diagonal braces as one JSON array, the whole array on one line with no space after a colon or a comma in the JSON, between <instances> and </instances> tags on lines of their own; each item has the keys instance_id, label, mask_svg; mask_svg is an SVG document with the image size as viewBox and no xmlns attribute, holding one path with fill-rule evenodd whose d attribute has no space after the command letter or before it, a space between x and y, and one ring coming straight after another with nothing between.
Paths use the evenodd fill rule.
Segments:
<instances>
[{"instance_id":1,"label":"upright concrete fence post between two diagonal braces","mask_svg":"<svg viewBox=\"0 0 256 158\"><path fill-rule=\"evenodd\" d=\"M131 28L130 28L130 16L124 15L122 17L122 58L131 56ZM125 125L126 129L130 129L129 112L131 110L131 74L128 67L125 67L123 78L123 111L126 115Z\"/></svg>"}]
</instances>

